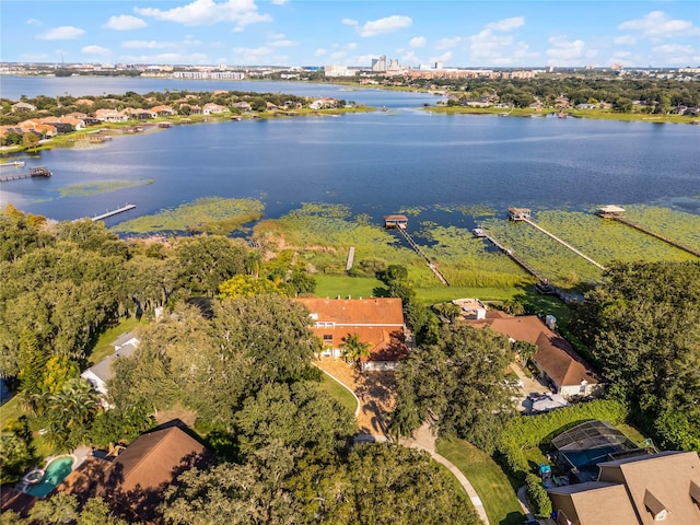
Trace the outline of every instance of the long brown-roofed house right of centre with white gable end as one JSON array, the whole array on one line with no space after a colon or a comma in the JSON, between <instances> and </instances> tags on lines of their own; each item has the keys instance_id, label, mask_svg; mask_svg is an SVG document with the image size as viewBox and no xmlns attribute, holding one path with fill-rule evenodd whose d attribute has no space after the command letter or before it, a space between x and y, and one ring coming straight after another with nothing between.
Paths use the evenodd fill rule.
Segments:
<instances>
[{"instance_id":1,"label":"long brown-roofed house right of centre with white gable end","mask_svg":"<svg viewBox=\"0 0 700 525\"><path fill-rule=\"evenodd\" d=\"M592 396L604 388L603 380L593 366L574 351L569 341L536 315L511 316L503 312L488 311L486 319L466 323L490 326L514 341L536 345L537 352L532 361L557 394L564 397Z\"/></svg>"}]
</instances>

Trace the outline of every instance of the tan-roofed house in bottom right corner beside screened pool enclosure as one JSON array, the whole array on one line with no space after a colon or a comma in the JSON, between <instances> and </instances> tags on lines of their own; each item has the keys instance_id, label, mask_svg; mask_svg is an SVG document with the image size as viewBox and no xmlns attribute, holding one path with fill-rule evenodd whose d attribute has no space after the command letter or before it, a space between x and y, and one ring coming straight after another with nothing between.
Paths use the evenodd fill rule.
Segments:
<instances>
[{"instance_id":1,"label":"tan-roofed house in bottom right corner beside screened pool enclosure","mask_svg":"<svg viewBox=\"0 0 700 525\"><path fill-rule=\"evenodd\" d=\"M598 464L596 481L547 490L559 525L700 523L700 458L661 452Z\"/></svg>"}]
</instances>

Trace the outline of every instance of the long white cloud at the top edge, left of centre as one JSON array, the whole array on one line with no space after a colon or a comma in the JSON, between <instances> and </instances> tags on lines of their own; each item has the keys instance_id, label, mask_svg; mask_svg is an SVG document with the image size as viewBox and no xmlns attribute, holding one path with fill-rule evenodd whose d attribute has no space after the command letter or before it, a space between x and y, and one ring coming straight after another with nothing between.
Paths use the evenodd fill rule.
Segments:
<instances>
[{"instance_id":1,"label":"long white cloud at the top edge, left of centre","mask_svg":"<svg viewBox=\"0 0 700 525\"><path fill-rule=\"evenodd\" d=\"M195 0L191 3L161 10L158 8L136 8L135 11L142 16L152 16L165 22L176 22L185 25L211 25L219 22L231 22L236 27L258 22L271 22L269 14L258 13L254 0L226 0L217 3L213 0Z\"/></svg>"}]
</instances>

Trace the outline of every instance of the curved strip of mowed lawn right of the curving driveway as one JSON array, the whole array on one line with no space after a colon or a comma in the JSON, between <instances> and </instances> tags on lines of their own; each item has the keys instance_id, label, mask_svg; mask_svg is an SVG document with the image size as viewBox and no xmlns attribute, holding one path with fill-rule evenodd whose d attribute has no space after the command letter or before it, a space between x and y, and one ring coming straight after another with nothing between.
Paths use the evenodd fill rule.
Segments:
<instances>
[{"instance_id":1,"label":"curved strip of mowed lawn right of the curving driveway","mask_svg":"<svg viewBox=\"0 0 700 525\"><path fill-rule=\"evenodd\" d=\"M450 459L474 486L491 525L521 525L525 520L515 491L491 457L464 440L438 440L438 454Z\"/></svg>"}]
</instances>

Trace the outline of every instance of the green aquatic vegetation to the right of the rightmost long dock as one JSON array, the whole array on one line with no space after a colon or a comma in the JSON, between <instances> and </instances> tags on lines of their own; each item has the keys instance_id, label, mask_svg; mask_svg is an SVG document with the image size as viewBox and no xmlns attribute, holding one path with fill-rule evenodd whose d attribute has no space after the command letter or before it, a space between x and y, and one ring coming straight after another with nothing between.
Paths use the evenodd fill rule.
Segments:
<instances>
[{"instance_id":1,"label":"green aquatic vegetation to the right of the rightmost long dock","mask_svg":"<svg viewBox=\"0 0 700 525\"><path fill-rule=\"evenodd\" d=\"M626 206L625 210L627 219L635 224L700 250L700 215L644 205Z\"/></svg>"}]
</instances>

